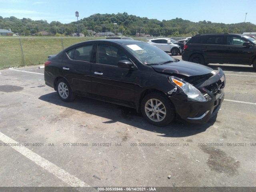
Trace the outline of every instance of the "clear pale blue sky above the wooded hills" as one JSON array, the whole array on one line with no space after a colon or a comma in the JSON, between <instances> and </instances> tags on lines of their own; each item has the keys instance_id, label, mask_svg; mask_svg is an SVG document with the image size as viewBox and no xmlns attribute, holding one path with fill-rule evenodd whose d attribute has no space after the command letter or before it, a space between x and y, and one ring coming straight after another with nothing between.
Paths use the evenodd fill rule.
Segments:
<instances>
[{"instance_id":1,"label":"clear pale blue sky above the wooded hills","mask_svg":"<svg viewBox=\"0 0 256 192\"><path fill-rule=\"evenodd\" d=\"M256 24L255 3L255 0L0 0L0 16L70 23L77 21L76 11L79 20L97 13L127 12L160 21L182 18L233 24L246 19Z\"/></svg>"}]
</instances>

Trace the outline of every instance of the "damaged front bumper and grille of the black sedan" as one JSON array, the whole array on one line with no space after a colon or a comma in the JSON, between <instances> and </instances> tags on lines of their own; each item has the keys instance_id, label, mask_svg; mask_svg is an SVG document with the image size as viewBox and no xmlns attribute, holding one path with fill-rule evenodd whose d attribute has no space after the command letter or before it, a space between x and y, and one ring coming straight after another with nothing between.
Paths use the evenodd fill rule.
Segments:
<instances>
[{"instance_id":1,"label":"damaged front bumper and grille of the black sedan","mask_svg":"<svg viewBox=\"0 0 256 192\"><path fill-rule=\"evenodd\" d=\"M194 123L208 122L220 110L220 106L224 100L225 83L224 72L219 68L214 76L196 85L196 88L200 92L204 92L207 95L207 101L190 100L184 92L170 96L169 98L176 110L177 119Z\"/></svg>"}]
</instances>

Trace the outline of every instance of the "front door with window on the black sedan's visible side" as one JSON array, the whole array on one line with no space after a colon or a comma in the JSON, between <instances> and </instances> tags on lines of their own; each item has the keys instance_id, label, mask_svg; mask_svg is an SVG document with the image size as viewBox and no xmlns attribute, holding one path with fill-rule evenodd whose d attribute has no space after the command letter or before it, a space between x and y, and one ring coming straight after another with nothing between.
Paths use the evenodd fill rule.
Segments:
<instances>
[{"instance_id":1,"label":"front door with window on the black sedan's visible side","mask_svg":"<svg viewBox=\"0 0 256 192\"><path fill-rule=\"evenodd\" d=\"M134 104L136 73L119 68L119 60L129 60L127 54L109 44L98 44L96 63L92 64L92 94L116 102Z\"/></svg>"}]
</instances>

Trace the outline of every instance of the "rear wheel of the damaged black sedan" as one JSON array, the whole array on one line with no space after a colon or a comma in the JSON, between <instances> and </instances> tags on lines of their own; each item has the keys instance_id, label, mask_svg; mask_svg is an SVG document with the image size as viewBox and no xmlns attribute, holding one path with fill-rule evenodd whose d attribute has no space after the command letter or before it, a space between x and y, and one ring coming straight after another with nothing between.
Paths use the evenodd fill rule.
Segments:
<instances>
[{"instance_id":1,"label":"rear wheel of the damaged black sedan","mask_svg":"<svg viewBox=\"0 0 256 192\"><path fill-rule=\"evenodd\" d=\"M76 98L76 95L74 94L66 80L59 79L56 84L56 88L58 96L62 101L70 102Z\"/></svg>"}]
</instances>

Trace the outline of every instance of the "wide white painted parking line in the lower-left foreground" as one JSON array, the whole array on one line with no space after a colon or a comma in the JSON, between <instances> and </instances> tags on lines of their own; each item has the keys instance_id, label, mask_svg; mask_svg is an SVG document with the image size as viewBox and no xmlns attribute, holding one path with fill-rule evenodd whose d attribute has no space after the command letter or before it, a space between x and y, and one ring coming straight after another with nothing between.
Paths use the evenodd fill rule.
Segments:
<instances>
[{"instance_id":1,"label":"wide white painted parking line in the lower-left foreground","mask_svg":"<svg viewBox=\"0 0 256 192\"><path fill-rule=\"evenodd\" d=\"M24 146L18 146L18 142L11 139L10 137L6 136L2 132L0 132L0 140L2 140L5 143L12 143L12 145L16 146L10 146L14 148L16 151L24 155L26 158L29 158L34 163L38 164L48 172L54 174L56 177L60 178L65 183L69 184L72 187L90 187L85 182L81 181L80 179L76 178L75 176L69 174L65 170L61 169L60 167L56 166L55 164L51 163L50 161L42 158L40 155L32 152L28 148ZM79 190L79 189L78 189Z\"/></svg>"}]
</instances>

